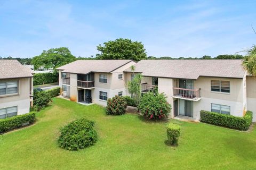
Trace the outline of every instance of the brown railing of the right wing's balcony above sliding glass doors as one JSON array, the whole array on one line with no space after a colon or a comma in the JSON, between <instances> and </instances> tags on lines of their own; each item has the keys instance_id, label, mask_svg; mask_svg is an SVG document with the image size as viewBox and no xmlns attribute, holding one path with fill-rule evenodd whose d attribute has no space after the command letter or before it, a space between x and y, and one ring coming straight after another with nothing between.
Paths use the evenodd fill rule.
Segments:
<instances>
[{"instance_id":1,"label":"brown railing of the right wing's balcony above sliding glass doors","mask_svg":"<svg viewBox=\"0 0 256 170\"><path fill-rule=\"evenodd\" d=\"M200 89L182 89L173 87L173 97L198 100L201 98Z\"/></svg>"}]
</instances>

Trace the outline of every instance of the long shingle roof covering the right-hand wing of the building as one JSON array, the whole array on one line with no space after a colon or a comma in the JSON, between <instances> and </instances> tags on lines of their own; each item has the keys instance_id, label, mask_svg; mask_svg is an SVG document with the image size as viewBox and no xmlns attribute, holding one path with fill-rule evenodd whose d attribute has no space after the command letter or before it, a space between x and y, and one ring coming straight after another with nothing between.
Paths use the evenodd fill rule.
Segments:
<instances>
[{"instance_id":1,"label":"long shingle roof covering the right-hand wing of the building","mask_svg":"<svg viewBox=\"0 0 256 170\"><path fill-rule=\"evenodd\" d=\"M194 80L200 76L243 78L245 73L242 60L141 60L135 64L135 72L150 77Z\"/></svg>"}]
</instances>

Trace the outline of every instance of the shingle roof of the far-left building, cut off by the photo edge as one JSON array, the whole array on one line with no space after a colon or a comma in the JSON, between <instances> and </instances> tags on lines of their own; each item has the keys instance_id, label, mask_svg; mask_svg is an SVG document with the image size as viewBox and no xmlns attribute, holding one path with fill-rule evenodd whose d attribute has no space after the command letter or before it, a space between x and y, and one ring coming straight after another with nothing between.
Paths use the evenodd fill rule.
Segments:
<instances>
[{"instance_id":1,"label":"shingle roof of the far-left building, cut off by the photo edge","mask_svg":"<svg viewBox=\"0 0 256 170\"><path fill-rule=\"evenodd\" d=\"M0 60L0 79L33 77L32 73L17 60Z\"/></svg>"}]
</instances>

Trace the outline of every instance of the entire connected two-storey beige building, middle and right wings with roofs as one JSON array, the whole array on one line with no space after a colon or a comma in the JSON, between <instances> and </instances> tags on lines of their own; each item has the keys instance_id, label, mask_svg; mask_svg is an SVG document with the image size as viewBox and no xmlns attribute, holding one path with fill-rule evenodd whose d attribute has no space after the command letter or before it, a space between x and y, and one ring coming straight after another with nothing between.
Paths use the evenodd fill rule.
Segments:
<instances>
[{"instance_id":1,"label":"entire connected two-storey beige building, middle and right wings with roofs","mask_svg":"<svg viewBox=\"0 0 256 170\"><path fill-rule=\"evenodd\" d=\"M171 117L199 120L201 110L243 116L248 109L256 121L256 78L246 75L242 60L76 61L58 68L62 95L104 106L107 98L130 96L126 84L133 77L131 65L143 75L142 93L156 86L164 92Z\"/></svg>"}]
</instances>

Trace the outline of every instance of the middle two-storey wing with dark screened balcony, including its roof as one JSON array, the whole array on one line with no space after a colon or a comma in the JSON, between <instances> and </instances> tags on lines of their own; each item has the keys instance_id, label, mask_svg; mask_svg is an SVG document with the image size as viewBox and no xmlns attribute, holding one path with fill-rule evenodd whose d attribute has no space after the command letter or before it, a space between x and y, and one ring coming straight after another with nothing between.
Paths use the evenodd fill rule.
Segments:
<instances>
[{"instance_id":1,"label":"middle two-storey wing with dark screened balcony, including its roof","mask_svg":"<svg viewBox=\"0 0 256 170\"><path fill-rule=\"evenodd\" d=\"M59 67L61 95L78 103L107 105L115 95L125 96L123 71L132 60L78 60Z\"/></svg>"}]
</instances>

